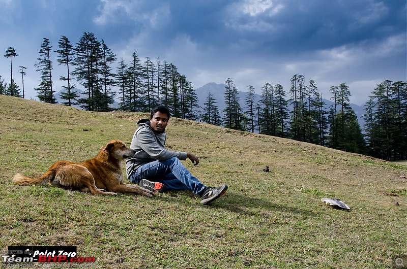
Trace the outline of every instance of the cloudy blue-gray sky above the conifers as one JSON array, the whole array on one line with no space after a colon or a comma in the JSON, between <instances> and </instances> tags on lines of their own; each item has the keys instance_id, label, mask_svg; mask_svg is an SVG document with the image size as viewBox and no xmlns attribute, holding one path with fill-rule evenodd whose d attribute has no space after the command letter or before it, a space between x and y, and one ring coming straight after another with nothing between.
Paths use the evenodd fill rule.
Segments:
<instances>
[{"instance_id":1,"label":"cloudy blue-gray sky above the conifers","mask_svg":"<svg viewBox=\"0 0 407 269\"><path fill-rule=\"evenodd\" d=\"M260 93L269 82L288 92L299 74L325 98L346 83L361 105L383 80L407 80L404 0L0 0L0 7L0 50L16 49L20 88L18 66L27 68L26 98L37 99L43 38L55 50L61 36L76 44L85 31L128 62L136 51L175 64L194 88L231 78L241 91L252 85ZM65 69L51 57L60 89ZM10 81L9 58L0 57L0 75Z\"/></svg>"}]
</instances>

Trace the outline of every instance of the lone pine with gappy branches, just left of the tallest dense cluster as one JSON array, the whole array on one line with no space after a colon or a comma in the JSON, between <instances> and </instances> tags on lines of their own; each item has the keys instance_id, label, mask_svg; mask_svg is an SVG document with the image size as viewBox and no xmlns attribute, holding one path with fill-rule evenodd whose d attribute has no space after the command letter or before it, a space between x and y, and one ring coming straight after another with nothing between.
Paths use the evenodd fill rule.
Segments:
<instances>
[{"instance_id":1,"label":"lone pine with gappy branches, just left of the tallest dense cluster","mask_svg":"<svg viewBox=\"0 0 407 269\"><path fill-rule=\"evenodd\" d=\"M65 36L61 36L58 44L59 49L55 51L56 53L58 53L58 57L56 60L58 64L64 64L67 67L67 76L61 76L60 80L66 81L68 83L68 86L62 86L64 89L67 90L67 92L60 93L60 96L62 99L67 100L67 102L63 103L65 106L72 106L76 104L75 100L77 97L79 97L77 91L73 91L75 85L71 84L72 74L69 71L70 66L73 64L74 49L69 39Z\"/></svg>"}]
</instances>

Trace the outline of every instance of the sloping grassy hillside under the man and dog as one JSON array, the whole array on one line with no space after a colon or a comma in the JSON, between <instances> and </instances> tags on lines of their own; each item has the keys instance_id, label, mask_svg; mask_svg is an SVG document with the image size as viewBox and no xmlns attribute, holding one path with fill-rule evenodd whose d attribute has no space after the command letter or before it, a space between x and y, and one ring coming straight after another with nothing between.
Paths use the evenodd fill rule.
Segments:
<instances>
[{"instance_id":1,"label":"sloping grassy hillside under the man and dog","mask_svg":"<svg viewBox=\"0 0 407 269\"><path fill-rule=\"evenodd\" d=\"M190 191L106 197L11 181L130 144L143 117L0 95L0 250L72 245L98 268L390 268L407 253L405 166L187 120L170 119L167 147L198 155L184 163L203 183L229 185L211 206Z\"/></svg>"}]
</instances>

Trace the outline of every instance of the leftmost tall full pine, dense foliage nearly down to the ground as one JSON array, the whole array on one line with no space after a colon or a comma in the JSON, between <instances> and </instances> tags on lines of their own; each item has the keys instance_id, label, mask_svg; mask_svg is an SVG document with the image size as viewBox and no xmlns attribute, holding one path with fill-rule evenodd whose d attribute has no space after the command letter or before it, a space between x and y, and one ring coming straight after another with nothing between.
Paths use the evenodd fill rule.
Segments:
<instances>
[{"instance_id":1,"label":"leftmost tall full pine, dense foliage nearly down to the ground","mask_svg":"<svg viewBox=\"0 0 407 269\"><path fill-rule=\"evenodd\" d=\"M35 90L38 91L37 97L45 103L55 104L54 90L52 89L52 61L51 61L51 43L47 38L44 38L40 49L40 58L35 64L38 72L41 74L41 83Z\"/></svg>"}]
</instances>

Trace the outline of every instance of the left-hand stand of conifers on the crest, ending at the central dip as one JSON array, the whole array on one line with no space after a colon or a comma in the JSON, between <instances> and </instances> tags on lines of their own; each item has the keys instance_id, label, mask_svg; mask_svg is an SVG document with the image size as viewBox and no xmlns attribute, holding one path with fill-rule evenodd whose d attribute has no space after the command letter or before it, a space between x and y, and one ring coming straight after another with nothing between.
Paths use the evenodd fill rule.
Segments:
<instances>
[{"instance_id":1,"label":"left-hand stand of conifers on the crest, ending at the central dip","mask_svg":"<svg viewBox=\"0 0 407 269\"><path fill-rule=\"evenodd\" d=\"M115 110L112 104L120 100L120 110L131 112L148 112L158 104L167 106L173 116L197 120L195 108L197 97L192 83L181 74L177 66L161 61L158 57L142 61L134 51L131 61L118 59L103 39L98 40L94 33L84 32L76 45L61 36L58 48L53 51L49 39L44 38L39 50L36 71L41 80L35 88L41 102L55 104L55 88L52 55L56 53L59 65L66 68L65 75L59 79L66 84L60 97L67 106L79 105L88 111L107 112ZM13 79L12 58L18 56L10 47L4 55L10 58L11 81L7 85L0 76L0 94L24 97ZM114 64L118 66L114 68ZM25 66L20 66L21 75L26 75ZM79 82L85 97L79 96L73 81ZM22 77L22 83L24 78Z\"/></svg>"}]
</instances>

